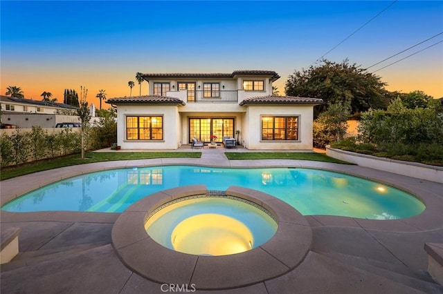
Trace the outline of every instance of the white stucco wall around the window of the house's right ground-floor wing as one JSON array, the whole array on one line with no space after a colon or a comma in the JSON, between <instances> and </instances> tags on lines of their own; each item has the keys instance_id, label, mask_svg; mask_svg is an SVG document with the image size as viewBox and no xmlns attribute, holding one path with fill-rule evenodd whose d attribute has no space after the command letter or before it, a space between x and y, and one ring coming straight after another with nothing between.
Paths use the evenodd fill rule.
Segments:
<instances>
[{"instance_id":1,"label":"white stucco wall around the window of the house's right ground-floor wing","mask_svg":"<svg viewBox=\"0 0 443 294\"><path fill-rule=\"evenodd\" d=\"M245 147L248 149L277 149L277 150L311 150L312 149L312 120L313 105L275 104L273 106L248 106L246 112L245 132L242 134ZM291 115L298 116L298 141L262 141L262 115Z\"/></svg>"}]
</instances>

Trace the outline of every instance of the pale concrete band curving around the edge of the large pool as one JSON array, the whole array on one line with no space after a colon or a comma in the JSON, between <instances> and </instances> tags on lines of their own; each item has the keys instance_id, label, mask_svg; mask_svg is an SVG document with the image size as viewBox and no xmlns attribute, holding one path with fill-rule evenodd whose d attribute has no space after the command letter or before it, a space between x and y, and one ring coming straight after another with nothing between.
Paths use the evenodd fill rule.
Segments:
<instances>
[{"instance_id":1,"label":"pale concrete band curving around the edge of the large pool","mask_svg":"<svg viewBox=\"0 0 443 294\"><path fill-rule=\"evenodd\" d=\"M133 168L147 166L170 166L170 165L188 165L188 166L206 166L215 168L316 168L319 170L329 170L346 175L353 175L363 179L370 179L405 190L414 195L426 205L425 210L414 217L394 220L375 220L359 219L356 217L343 217L333 215L310 215L305 216L311 226L346 226L350 228L367 228L380 231L414 232L426 231L443 227L443 194L442 184L426 181L404 175L388 173L373 168L347 164L332 164L323 161L305 161L293 159L262 159L262 160L229 160L222 164L208 164L204 160L195 160L188 158L167 158L167 159L138 159L124 161L104 161L93 164L82 164L78 166L68 166L58 168L57 173L54 170L46 170L39 173L15 177L1 181L1 205L19 197L25 193L46 186L60 179L74 177L85 173L92 173L101 170L110 170L114 168ZM1 219L7 217L10 219L46 219L51 215L52 219L58 217L64 219L67 215L102 215L107 213L78 213L78 212L41 212L41 213L11 213L1 211ZM15 216L14 216L15 215ZM58 216L58 217L56 217ZM99 218L101 218L100 216Z\"/></svg>"}]
</instances>

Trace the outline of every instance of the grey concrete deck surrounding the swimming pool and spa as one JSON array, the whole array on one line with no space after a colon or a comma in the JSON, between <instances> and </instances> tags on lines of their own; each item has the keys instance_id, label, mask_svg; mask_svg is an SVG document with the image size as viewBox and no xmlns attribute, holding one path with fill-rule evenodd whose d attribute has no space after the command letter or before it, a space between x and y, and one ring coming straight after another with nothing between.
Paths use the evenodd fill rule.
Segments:
<instances>
[{"instance_id":1,"label":"grey concrete deck surrounding the swimming pool and spa","mask_svg":"<svg viewBox=\"0 0 443 294\"><path fill-rule=\"evenodd\" d=\"M202 152L200 159L107 161L8 179L1 182L1 203L66 177L120 167L191 164L334 170L413 193L425 202L426 210L408 219L387 221L305 216L312 231L311 246L302 262L291 271L241 288L195 293L443 293L443 286L435 284L426 272L424 251L425 243L443 243L442 183L318 161L228 160L223 148L195 151ZM120 213L2 211L1 231L19 227L21 233L19 255L0 267L1 293L177 293L199 288L198 284L183 281L162 285L127 268L116 254L111 238L119 216ZM288 246L291 245L295 246L288 238ZM177 264L179 262L177 259ZM243 266L237 269L239 276L244 274L242 271L246 271L247 265L248 259L244 259ZM160 268L162 264L147 266ZM217 279L210 270L199 273L199 279L204 281L202 275L207 275L207 281Z\"/></svg>"}]
</instances>

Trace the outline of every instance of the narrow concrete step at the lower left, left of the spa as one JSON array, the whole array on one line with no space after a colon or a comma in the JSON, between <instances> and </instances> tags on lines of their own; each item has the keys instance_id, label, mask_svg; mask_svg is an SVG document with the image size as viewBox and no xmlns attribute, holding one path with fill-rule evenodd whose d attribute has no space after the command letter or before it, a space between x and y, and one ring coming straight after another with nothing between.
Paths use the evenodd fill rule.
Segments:
<instances>
[{"instance_id":1,"label":"narrow concrete step at the lower left, left of the spa","mask_svg":"<svg viewBox=\"0 0 443 294\"><path fill-rule=\"evenodd\" d=\"M12 271L16 268L39 264L40 262L46 262L51 259L62 258L68 255L81 253L82 251L89 251L92 248L97 248L103 245L104 244L102 243L81 244L76 246L60 247L57 249L26 251L24 253L19 253L14 259L12 259L11 262L8 262L7 264L2 264L1 271Z\"/></svg>"}]
</instances>

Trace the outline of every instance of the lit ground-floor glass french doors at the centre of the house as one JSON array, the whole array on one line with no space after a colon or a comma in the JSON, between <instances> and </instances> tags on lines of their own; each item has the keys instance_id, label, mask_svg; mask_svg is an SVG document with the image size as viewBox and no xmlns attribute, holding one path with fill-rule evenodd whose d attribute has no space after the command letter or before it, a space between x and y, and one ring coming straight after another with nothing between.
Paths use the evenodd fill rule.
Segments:
<instances>
[{"instance_id":1,"label":"lit ground-floor glass french doors at the centre of the house","mask_svg":"<svg viewBox=\"0 0 443 294\"><path fill-rule=\"evenodd\" d=\"M199 141L209 142L212 141L211 136L216 136L214 141L217 142L221 142L223 137L234 137L234 119L189 119L189 141L195 137Z\"/></svg>"}]
</instances>

